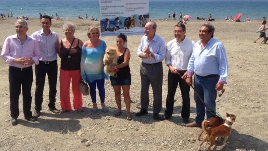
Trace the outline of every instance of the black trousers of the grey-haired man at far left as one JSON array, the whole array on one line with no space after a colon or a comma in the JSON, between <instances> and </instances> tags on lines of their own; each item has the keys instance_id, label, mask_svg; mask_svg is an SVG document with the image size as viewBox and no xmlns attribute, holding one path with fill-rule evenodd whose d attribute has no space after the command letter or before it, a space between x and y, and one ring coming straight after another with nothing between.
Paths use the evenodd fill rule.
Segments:
<instances>
[{"instance_id":1,"label":"black trousers of the grey-haired man at far left","mask_svg":"<svg viewBox=\"0 0 268 151\"><path fill-rule=\"evenodd\" d=\"M31 88L33 84L33 68L16 68L9 66L10 116L19 117L19 95L22 86L23 113L25 118L32 117Z\"/></svg>"}]
</instances>

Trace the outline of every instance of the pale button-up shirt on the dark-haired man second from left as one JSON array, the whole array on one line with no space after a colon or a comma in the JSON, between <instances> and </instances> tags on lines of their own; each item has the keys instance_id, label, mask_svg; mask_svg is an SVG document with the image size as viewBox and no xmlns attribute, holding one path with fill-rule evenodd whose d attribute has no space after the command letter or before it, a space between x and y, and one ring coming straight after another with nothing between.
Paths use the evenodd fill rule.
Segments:
<instances>
[{"instance_id":1,"label":"pale button-up shirt on the dark-haired man second from left","mask_svg":"<svg viewBox=\"0 0 268 151\"><path fill-rule=\"evenodd\" d=\"M50 30L50 33L46 35L41 29L32 34L32 37L38 41L40 55L40 61L54 61L57 59L57 47L58 47L58 34Z\"/></svg>"}]
</instances>

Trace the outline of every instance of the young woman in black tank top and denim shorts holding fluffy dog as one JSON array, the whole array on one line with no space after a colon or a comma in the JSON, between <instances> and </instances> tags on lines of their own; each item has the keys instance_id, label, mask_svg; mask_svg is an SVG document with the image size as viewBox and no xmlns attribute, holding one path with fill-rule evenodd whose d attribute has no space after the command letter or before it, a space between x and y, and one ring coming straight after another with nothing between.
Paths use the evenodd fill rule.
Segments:
<instances>
[{"instance_id":1,"label":"young woman in black tank top and denim shorts holding fluffy dog","mask_svg":"<svg viewBox=\"0 0 268 151\"><path fill-rule=\"evenodd\" d=\"M115 101L118 107L118 111L115 112L116 116L119 116L122 113L121 106L121 87L123 90L124 101L126 104L127 110L127 120L132 120L132 116L130 114L130 96L129 96L129 88L131 84L131 74L129 68L129 60L130 60L130 51L128 48L125 48L124 45L127 39L124 34L119 34L116 38L117 45L117 55L118 65L111 67L111 71L119 70L117 72L117 77L110 77L111 85L115 90Z\"/></svg>"}]
</instances>

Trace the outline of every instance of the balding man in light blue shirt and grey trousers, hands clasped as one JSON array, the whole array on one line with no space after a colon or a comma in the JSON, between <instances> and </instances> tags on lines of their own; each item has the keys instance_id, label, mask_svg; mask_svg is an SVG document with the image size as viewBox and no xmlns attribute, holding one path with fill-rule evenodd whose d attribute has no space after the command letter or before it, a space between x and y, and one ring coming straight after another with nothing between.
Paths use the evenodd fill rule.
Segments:
<instances>
[{"instance_id":1,"label":"balding man in light blue shirt and grey trousers, hands clasped","mask_svg":"<svg viewBox=\"0 0 268 151\"><path fill-rule=\"evenodd\" d=\"M156 23L149 21L145 24L144 34L137 50L137 55L142 58L140 65L141 95L140 102L142 109L136 116L147 114L149 106L149 86L153 89L153 119L163 120L159 117L162 109L162 84L163 64L166 56L166 46L163 38L155 34Z\"/></svg>"}]
</instances>

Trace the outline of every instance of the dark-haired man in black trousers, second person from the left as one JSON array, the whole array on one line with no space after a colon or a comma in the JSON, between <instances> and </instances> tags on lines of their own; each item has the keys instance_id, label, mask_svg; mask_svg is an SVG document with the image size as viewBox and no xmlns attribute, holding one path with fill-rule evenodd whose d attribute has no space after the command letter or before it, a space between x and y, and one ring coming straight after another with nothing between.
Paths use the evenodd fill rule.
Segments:
<instances>
[{"instance_id":1,"label":"dark-haired man in black trousers, second person from the left","mask_svg":"<svg viewBox=\"0 0 268 151\"><path fill-rule=\"evenodd\" d=\"M48 107L51 112L59 113L59 110L55 107L58 79L57 47L59 37L56 32L50 30L51 25L51 17L42 16L42 29L32 34L32 37L38 41L41 52L41 59L39 59L39 64L35 65L36 88L34 95L34 117L39 117L40 111L42 110L46 74L48 75L49 85Z\"/></svg>"}]
</instances>

